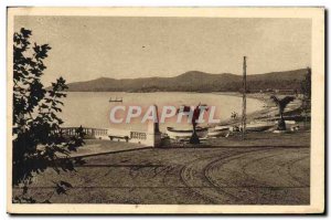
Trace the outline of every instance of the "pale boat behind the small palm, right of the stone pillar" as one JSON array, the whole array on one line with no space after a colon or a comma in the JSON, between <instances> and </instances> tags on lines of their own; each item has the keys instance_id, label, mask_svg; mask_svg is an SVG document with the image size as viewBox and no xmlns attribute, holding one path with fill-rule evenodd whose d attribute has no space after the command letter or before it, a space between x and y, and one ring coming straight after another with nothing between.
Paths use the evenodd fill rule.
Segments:
<instances>
[{"instance_id":1,"label":"pale boat behind the small palm, right of the stone pillar","mask_svg":"<svg viewBox=\"0 0 331 220\"><path fill-rule=\"evenodd\" d=\"M200 138L203 138L207 135L207 127L196 127L195 128L196 134ZM167 127L167 135L171 139L190 139L192 136L193 129L188 128L188 129L177 129L174 127Z\"/></svg>"}]
</instances>

